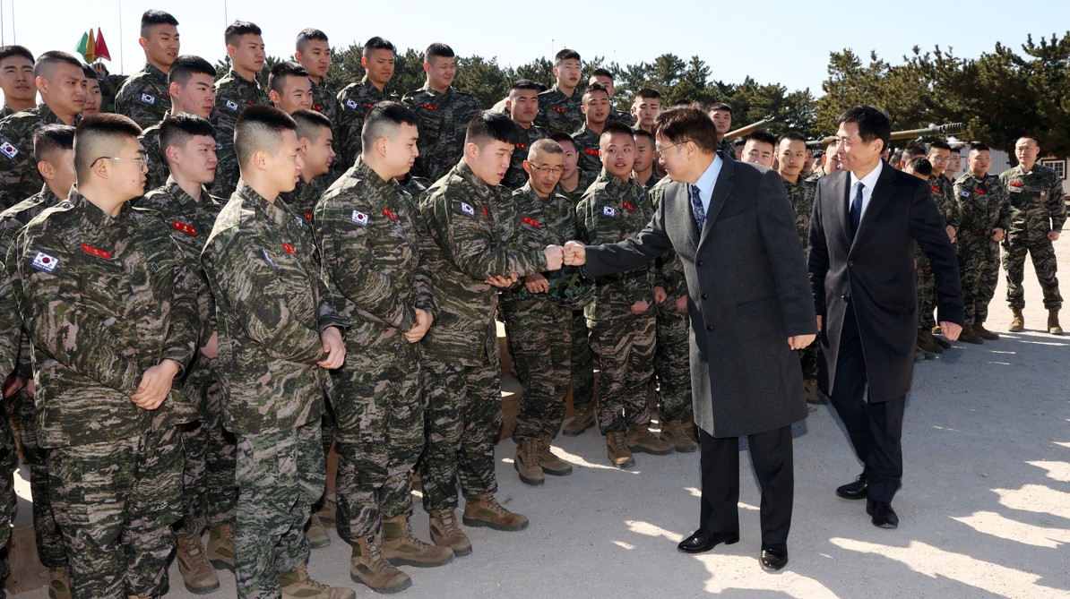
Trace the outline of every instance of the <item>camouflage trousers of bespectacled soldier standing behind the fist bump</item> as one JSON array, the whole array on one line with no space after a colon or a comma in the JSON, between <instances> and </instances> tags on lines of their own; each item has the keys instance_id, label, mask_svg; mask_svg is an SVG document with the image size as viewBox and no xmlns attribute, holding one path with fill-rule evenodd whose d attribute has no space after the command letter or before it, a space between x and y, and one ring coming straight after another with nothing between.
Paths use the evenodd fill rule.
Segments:
<instances>
[{"instance_id":1,"label":"camouflage trousers of bespectacled soldier standing behind the fist bump","mask_svg":"<svg viewBox=\"0 0 1070 599\"><path fill-rule=\"evenodd\" d=\"M572 311L549 301L516 302L503 309L513 359L523 384L513 441L553 439L565 418L571 373Z\"/></svg>"}]
</instances>

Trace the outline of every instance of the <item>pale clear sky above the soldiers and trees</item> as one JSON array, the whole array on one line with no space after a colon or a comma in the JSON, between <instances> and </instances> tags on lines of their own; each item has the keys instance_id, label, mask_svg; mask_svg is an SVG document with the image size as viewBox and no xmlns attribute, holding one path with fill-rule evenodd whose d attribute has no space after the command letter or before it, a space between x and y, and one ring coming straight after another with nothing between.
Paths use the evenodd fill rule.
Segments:
<instances>
[{"instance_id":1,"label":"pale clear sky above the soldiers and trees","mask_svg":"<svg viewBox=\"0 0 1070 599\"><path fill-rule=\"evenodd\" d=\"M137 44L141 13L160 9L179 19L182 53L196 53L212 63L225 55L223 30L227 24L245 19L260 26L268 53L274 56L292 56L294 37L305 27L322 29L333 46L363 44L372 35L382 35L402 51L444 42L460 56L496 57L499 64L513 66L538 57L552 58L562 47L575 48L584 58L603 56L622 64L649 62L672 52L685 60L699 56L710 66L715 79L728 83L738 83L749 75L760 83L782 83L789 91L809 88L815 96L822 95L821 81L827 75L828 52L832 50L852 48L867 61L870 51L876 50L881 58L897 63L915 45L931 50L938 44L953 48L957 56L976 58L991 51L997 41L1020 50L1028 33L1039 40L1070 30L1066 0L928 4L0 0L0 5L3 43L21 44L34 55L50 49L74 51L82 32L102 28L111 50L108 66L112 73L132 74L141 67L144 55ZM942 14L914 10L927 5L936 6ZM1014 14L1009 6L1027 7Z\"/></svg>"}]
</instances>

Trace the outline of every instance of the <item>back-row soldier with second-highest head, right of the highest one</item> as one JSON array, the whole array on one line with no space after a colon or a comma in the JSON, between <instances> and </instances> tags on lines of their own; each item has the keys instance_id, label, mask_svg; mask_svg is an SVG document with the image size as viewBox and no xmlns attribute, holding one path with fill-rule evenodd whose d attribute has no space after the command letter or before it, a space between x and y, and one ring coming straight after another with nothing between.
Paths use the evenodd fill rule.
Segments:
<instances>
[{"instance_id":1,"label":"back-row soldier with second-highest head, right of the highest one","mask_svg":"<svg viewBox=\"0 0 1070 599\"><path fill-rule=\"evenodd\" d=\"M227 27L225 33L230 71L215 83L215 105L209 121L215 127L215 140L219 164L215 169L212 195L229 198L238 186L238 155L234 152L234 123L239 114L249 106L266 105L271 102L268 92L257 81L257 74L264 67L264 42L260 28L238 20Z\"/></svg>"}]
</instances>

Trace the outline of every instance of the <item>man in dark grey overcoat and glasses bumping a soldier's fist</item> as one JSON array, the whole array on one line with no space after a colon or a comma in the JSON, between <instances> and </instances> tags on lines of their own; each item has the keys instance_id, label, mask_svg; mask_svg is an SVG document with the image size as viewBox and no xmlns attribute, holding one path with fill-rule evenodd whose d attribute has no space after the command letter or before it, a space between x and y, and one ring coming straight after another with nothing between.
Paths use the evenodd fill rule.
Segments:
<instances>
[{"instance_id":1,"label":"man in dark grey overcoat and glasses bumping a soldier's fist","mask_svg":"<svg viewBox=\"0 0 1070 599\"><path fill-rule=\"evenodd\" d=\"M795 350L813 342L802 248L776 171L717 152L717 132L693 107L655 120L659 160L672 178L635 239L583 246L566 260L588 277L620 273L674 249L687 279L691 388L702 449L699 529L687 553L739 540L739 442L747 436L762 487L766 570L788 563L794 474L791 425L807 415ZM725 351L725 348L731 350Z\"/></svg>"}]
</instances>

